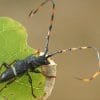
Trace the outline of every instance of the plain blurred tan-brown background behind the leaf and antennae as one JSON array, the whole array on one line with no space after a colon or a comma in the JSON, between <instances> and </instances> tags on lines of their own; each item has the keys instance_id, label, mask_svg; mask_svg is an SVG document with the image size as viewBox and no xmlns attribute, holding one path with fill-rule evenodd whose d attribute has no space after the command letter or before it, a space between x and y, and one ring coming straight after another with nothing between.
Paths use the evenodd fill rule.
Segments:
<instances>
[{"instance_id":1,"label":"plain blurred tan-brown background behind the leaf and antennae","mask_svg":"<svg viewBox=\"0 0 100 100\"><path fill-rule=\"evenodd\" d=\"M31 47L44 48L50 18L51 3L47 3L33 18L32 9L44 0L0 0L0 16L21 22L28 32ZM100 1L54 0L55 21L49 50L95 46L100 48ZM48 100L100 100L100 77L83 83L75 77L91 76L98 69L94 50L75 51L53 57L57 66L55 88Z\"/></svg>"}]
</instances>

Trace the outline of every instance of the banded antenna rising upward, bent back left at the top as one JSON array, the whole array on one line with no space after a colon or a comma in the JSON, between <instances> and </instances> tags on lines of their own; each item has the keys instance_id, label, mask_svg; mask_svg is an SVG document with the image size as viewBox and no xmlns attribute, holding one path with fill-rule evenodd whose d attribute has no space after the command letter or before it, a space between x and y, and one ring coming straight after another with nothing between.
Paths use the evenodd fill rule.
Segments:
<instances>
[{"instance_id":1,"label":"banded antenna rising upward, bent back left at the top","mask_svg":"<svg viewBox=\"0 0 100 100\"><path fill-rule=\"evenodd\" d=\"M32 17L35 13L38 12L38 10L45 5L48 1L52 2L52 14L51 14L51 18L50 18L50 25L48 28L48 34L46 37L46 42L45 42L45 48L44 48L44 56L46 56L46 54L48 53L48 45L49 45L49 39L50 39L50 35L51 35L51 30L52 30L52 25L53 25L53 21L54 21L54 10L55 10L55 3L53 0L45 0L44 2L42 2L40 4L40 6L36 9L36 10L32 10L29 14L29 17Z\"/></svg>"}]
</instances>

